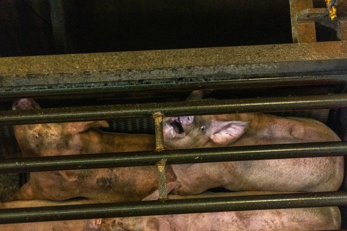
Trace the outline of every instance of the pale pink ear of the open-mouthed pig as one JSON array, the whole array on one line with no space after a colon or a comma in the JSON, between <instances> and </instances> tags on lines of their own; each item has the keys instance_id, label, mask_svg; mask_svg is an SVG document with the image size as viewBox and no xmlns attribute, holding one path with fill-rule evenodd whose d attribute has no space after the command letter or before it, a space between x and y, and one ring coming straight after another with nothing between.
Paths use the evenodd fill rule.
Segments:
<instances>
[{"instance_id":1,"label":"pale pink ear of the open-mouthed pig","mask_svg":"<svg viewBox=\"0 0 347 231\"><path fill-rule=\"evenodd\" d=\"M210 139L220 145L228 145L238 140L248 126L243 121L213 121L211 123Z\"/></svg>"}]
</instances>

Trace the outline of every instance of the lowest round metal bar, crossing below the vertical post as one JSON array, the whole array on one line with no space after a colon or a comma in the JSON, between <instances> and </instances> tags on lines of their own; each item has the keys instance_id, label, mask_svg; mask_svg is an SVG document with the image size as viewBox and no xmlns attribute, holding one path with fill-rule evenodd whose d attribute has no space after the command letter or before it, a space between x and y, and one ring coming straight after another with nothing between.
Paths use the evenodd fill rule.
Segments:
<instances>
[{"instance_id":1,"label":"lowest round metal bar, crossing below the vertical post","mask_svg":"<svg viewBox=\"0 0 347 231\"><path fill-rule=\"evenodd\" d=\"M0 224L338 205L347 205L347 192L9 208L0 209Z\"/></svg>"}]
</instances>

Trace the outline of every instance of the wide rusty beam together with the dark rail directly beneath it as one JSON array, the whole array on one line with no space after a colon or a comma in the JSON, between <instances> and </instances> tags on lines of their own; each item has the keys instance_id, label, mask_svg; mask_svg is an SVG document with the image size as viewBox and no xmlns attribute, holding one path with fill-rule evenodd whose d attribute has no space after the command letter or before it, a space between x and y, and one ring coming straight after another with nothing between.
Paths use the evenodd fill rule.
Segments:
<instances>
[{"instance_id":1,"label":"wide rusty beam together with the dark rail directly beneath it","mask_svg":"<svg viewBox=\"0 0 347 231\"><path fill-rule=\"evenodd\" d=\"M0 99L81 96L85 90L108 95L218 89L250 86L249 81L256 86L336 83L346 78L346 51L347 42L339 41L3 57Z\"/></svg>"}]
</instances>

